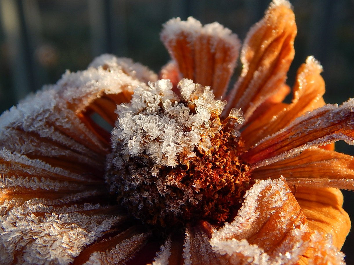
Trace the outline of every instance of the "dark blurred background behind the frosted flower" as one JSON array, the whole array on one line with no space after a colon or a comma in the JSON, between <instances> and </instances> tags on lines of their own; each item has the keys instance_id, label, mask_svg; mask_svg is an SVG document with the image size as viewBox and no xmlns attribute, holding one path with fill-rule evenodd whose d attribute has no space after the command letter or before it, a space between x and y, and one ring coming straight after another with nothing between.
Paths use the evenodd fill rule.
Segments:
<instances>
[{"instance_id":1,"label":"dark blurred background behind the frosted flower","mask_svg":"<svg viewBox=\"0 0 354 265\"><path fill-rule=\"evenodd\" d=\"M169 60L159 40L172 17L217 21L244 39L270 0L0 0L0 113L66 69L86 69L94 57L113 53L156 72ZM328 103L354 97L354 0L292 0L298 35L289 71L314 55L324 67ZM235 76L240 67L235 71ZM234 78L235 80L235 78ZM354 155L353 146L337 151ZM344 191L344 209L354 220L354 192ZM354 264L354 231L342 251Z\"/></svg>"}]
</instances>

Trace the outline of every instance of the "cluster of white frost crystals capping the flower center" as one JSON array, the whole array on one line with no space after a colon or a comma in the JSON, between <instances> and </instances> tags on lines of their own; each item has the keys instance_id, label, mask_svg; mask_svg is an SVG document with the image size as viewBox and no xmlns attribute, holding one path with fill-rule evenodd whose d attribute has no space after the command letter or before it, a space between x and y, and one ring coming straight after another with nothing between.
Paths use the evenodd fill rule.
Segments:
<instances>
[{"instance_id":1,"label":"cluster of white frost crystals capping the flower center","mask_svg":"<svg viewBox=\"0 0 354 265\"><path fill-rule=\"evenodd\" d=\"M188 164L195 152L215 147L211 139L221 130L218 116L225 102L215 100L209 87L183 79L178 83L181 101L169 80L139 86L130 104L117 107L112 132L113 148L130 156L148 156L155 164L176 167Z\"/></svg>"}]
</instances>

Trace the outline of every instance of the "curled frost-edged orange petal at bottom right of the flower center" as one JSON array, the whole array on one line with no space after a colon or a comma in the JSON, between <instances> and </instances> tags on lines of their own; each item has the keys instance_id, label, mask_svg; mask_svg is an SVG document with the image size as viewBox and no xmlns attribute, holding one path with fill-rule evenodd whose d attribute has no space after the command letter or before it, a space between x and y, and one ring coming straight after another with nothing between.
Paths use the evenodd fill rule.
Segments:
<instances>
[{"instance_id":1,"label":"curled frost-edged orange petal at bottom right of the flower center","mask_svg":"<svg viewBox=\"0 0 354 265\"><path fill-rule=\"evenodd\" d=\"M235 220L214 232L210 242L235 264L295 264L311 232L285 179L268 179L246 192Z\"/></svg>"}]
</instances>

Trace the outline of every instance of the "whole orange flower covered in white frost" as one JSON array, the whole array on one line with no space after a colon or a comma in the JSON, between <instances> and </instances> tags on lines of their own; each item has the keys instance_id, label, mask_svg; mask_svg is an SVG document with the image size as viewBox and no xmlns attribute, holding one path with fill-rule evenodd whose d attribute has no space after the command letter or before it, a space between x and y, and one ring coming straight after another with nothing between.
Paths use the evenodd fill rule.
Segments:
<instances>
[{"instance_id":1,"label":"whole orange flower covered in white frost","mask_svg":"<svg viewBox=\"0 0 354 265\"><path fill-rule=\"evenodd\" d=\"M2 264L344 263L354 101L325 105L308 57L282 102L295 35L274 0L227 93L237 36L172 19L160 76L102 55L3 113Z\"/></svg>"}]
</instances>

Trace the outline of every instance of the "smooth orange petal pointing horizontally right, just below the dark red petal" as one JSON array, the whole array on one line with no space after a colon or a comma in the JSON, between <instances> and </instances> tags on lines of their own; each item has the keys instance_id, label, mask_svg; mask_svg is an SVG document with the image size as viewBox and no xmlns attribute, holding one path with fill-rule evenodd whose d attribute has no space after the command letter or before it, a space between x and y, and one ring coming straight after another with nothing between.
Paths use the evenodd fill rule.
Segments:
<instances>
[{"instance_id":1,"label":"smooth orange petal pointing horizontally right, just below the dark red petal","mask_svg":"<svg viewBox=\"0 0 354 265\"><path fill-rule=\"evenodd\" d=\"M259 167L252 172L255 179L287 179L297 187L334 187L354 189L354 158L350 155L312 147L301 154Z\"/></svg>"}]
</instances>

